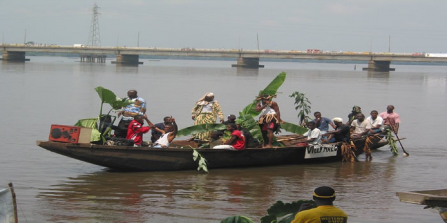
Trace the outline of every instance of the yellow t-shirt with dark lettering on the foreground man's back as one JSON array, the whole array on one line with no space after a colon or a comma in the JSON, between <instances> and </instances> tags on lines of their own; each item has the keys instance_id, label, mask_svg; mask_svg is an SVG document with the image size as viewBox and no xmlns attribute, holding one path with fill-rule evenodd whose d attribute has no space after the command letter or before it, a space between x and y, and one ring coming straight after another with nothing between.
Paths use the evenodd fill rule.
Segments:
<instances>
[{"instance_id":1,"label":"yellow t-shirt with dark lettering on the foreground man's back","mask_svg":"<svg viewBox=\"0 0 447 223\"><path fill-rule=\"evenodd\" d=\"M347 223L348 215L333 205L322 205L298 212L292 223Z\"/></svg>"}]
</instances>

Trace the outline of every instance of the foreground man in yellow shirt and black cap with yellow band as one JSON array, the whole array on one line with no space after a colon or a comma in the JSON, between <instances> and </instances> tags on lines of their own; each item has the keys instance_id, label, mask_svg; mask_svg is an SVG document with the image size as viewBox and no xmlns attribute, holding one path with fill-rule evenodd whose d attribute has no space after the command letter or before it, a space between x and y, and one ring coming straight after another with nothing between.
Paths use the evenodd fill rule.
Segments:
<instances>
[{"instance_id":1,"label":"foreground man in yellow shirt and black cap with yellow band","mask_svg":"<svg viewBox=\"0 0 447 223\"><path fill-rule=\"evenodd\" d=\"M317 187L313 191L313 200L316 208L308 209L309 203L299 208L298 214L292 223L347 223L348 215L333 205L335 200L334 189L328 186ZM306 210L308 209L308 210ZM303 210L303 211L302 211Z\"/></svg>"}]
</instances>

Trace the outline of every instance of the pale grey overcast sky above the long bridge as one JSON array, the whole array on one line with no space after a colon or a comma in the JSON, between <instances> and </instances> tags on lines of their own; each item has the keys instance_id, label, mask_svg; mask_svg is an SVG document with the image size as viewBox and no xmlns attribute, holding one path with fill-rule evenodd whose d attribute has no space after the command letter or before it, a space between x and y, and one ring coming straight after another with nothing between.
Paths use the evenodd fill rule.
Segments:
<instances>
[{"instance_id":1,"label":"pale grey overcast sky above the long bridge","mask_svg":"<svg viewBox=\"0 0 447 223\"><path fill-rule=\"evenodd\" d=\"M2 43L447 52L446 0L0 0ZM26 34L26 35L25 35Z\"/></svg>"}]
</instances>

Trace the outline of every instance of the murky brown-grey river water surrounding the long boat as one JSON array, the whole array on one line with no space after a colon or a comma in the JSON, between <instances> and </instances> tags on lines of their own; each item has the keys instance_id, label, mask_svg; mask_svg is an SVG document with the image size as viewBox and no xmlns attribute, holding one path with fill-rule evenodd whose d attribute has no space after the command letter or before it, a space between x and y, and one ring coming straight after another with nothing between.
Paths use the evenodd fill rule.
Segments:
<instances>
[{"instance_id":1,"label":"murky brown-grey river water surrounding the long boat","mask_svg":"<svg viewBox=\"0 0 447 223\"><path fill-rule=\"evenodd\" d=\"M78 58L29 56L25 63L2 62L0 104L0 187L13 182L20 222L219 223L244 215L255 222L278 200L311 199L315 187L337 191L334 204L353 223L442 222L433 210L399 202L396 192L447 187L444 122L445 66L393 65L396 71L362 71L366 64L268 62L238 69L236 61L149 60L139 66L80 63ZM177 172L114 172L35 145L48 139L51 124L95 117L103 86L121 97L130 89L148 102L152 122L172 115L180 128L193 124L190 111L214 92L224 115L237 114L280 72L282 118L298 122L294 100L305 92L311 110L344 119L354 105L368 116L392 104L402 123L399 137L410 154L388 148L355 164L335 162ZM110 107L104 105L104 109ZM149 136L146 136L149 140ZM399 146L399 145L398 145Z\"/></svg>"}]
</instances>

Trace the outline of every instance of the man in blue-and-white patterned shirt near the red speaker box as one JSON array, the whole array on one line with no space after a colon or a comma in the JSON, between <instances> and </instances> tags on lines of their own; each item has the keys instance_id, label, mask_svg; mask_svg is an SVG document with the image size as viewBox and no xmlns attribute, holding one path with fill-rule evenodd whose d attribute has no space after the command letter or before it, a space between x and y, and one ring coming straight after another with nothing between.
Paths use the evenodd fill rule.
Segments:
<instances>
[{"instance_id":1,"label":"man in blue-and-white patterned shirt near the red speaker box","mask_svg":"<svg viewBox=\"0 0 447 223\"><path fill-rule=\"evenodd\" d=\"M136 90L130 90L127 92L126 100L132 100L134 103L124 107L118 112L118 117L121 116L121 120L118 123L118 129L115 130L115 137L126 138L127 130L130 122L134 120L134 117L138 114L144 115L146 113L146 100L138 97Z\"/></svg>"}]
</instances>

